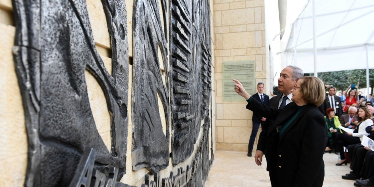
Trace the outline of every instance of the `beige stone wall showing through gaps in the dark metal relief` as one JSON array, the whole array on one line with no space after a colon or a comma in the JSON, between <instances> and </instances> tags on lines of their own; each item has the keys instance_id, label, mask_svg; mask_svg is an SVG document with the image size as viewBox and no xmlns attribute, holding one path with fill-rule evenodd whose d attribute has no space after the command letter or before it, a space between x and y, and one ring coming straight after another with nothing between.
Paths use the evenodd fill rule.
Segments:
<instances>
[{"instance_id":1,"label":"beige stone wall showing through gaps in the dark metal relief","mask_svg":"<svg viewBox=\"0 0 374 187\"><path fill-rule=\"evenodd\" d=\"M129 56L132 57L132 15L134 0L125 0L127 7L127 23L128 23L128 43ZM210 0L211 15L210 20L213 20L213 0ZM93 30L96 49L104 61L105 67L111 73L111 59L110 59L110 39L107 29L106 18L100 0L87 0L87 9ZM213 31L213 21L211 21L211 31ZM21 187L24 183L24 176L27 167L27 133L25 128L25 118L23 113L22 99L15 73L14 61L12 56L12 46L14 45L15 26L13 19L13 8L11 0L0 0L0 187ZM212 37L213 37L212 33ZM212 38L213 39L213 38ZM211 41L213 46L214 41ZM161 56L161 55L160 55ZM160 60L161 62L162 60ZM212 51L212 62L214 62L214 51ZM215 77L215 64L212 64L212 81ZM104 143L108 149L110 143L110 118L109 112L105 106L105 97L96 79L86 71L85 77L87 80L87 92L90 99L90 106L97 126L97 129L103 138ZM165 79L165 76L164 76ZM131 92L132 92L132 65L129 65L129 96L128 96L128 111L131 112ZM215 98L216 86L212 85L212 132L213 142L215 139ZM163 109L162 107L160 109ZM161 111L163 113L163 111ZM132 170L132 119L129 113L129 127L127 139L127 174L122 178L121 182L141 186L144 183L144 176L149 173L146 169L138 171ZM164 132L166 131L165 118L163 120ZM200 130L202 132L202 129ZM210 133L209 133L210 134ZM201 133L198 140L201 139ZM170 141L171 142L171 141ZM195 150L198 147L198 142L195 144ZM209 140L210 143L210 140ZM215 150L215 144L211 145ZM210 154L210 153L209 153ZM210 159L209 155L209 159ZM187 165L192 164L194 153L187 159L187 161L173 167L171 159L169 167L160 172L161 177L166 178L170 176L173 171L177 174L178 168L186 168Z\"/></svg>"}]
</instances>

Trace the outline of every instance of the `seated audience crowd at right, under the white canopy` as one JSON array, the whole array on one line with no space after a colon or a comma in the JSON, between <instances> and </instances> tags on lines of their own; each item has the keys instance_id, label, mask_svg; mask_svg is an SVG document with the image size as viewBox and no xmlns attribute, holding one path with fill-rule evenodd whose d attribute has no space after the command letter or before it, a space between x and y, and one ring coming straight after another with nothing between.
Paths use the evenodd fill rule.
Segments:
<instances>
[{"instance_id":1,"label":"seated audience crowd at right, under the white canopy","mask_svg":"<svg viewBox=\"0 0 374 187\"><path fill-rule=\"evenodd\" d=\"M325 111L329 134L325 153L335 150L340 155L337 166L347 165L350 161L351 171L342 179L355 180L356 187L374 187L374 151L362 145L365 136L374 139L373 97L366 98L355 85L339 92L338 96L334 86L326 87L329 93L320 106L320 110ZM342 131L344 128L347 129Z\"/></svg>"}]
</instances>

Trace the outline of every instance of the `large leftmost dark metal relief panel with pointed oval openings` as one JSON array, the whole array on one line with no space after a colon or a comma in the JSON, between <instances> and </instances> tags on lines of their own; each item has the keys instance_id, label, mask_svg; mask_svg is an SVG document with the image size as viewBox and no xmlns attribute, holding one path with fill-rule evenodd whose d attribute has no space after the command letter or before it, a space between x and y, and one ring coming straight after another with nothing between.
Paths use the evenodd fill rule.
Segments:
<instances>
[{"instance_id":1,"label":"large leftmost dark metal relief panel with pointed oval openings","mask_svg":"<svg viewBox=\"0 0 374 187\"><path fill-rule=\"evenodd\" d=\"M68 186L85 149L95 165L126 166L128 43L123 1L103 1L112 45L112 74L95 49L85 0L13 0L14 61L28 136L25 186ZM92 116L85 70L97 80L110 113L105 146ZM68 158L68 159L67 159Z\"/></svg>"}]
</instances>

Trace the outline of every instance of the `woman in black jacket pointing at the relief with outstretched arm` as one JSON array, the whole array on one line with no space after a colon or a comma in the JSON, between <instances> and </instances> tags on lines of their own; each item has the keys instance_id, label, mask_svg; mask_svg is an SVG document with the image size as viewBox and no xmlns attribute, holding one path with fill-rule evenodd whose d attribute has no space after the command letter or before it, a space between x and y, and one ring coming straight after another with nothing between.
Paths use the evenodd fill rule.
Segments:
<instances>
[{"instance_id":1,"label":"woman in black jacket pointing at the relief with outstretched arm","mask_svg":"<svg viewBox=\"0 0 374 187\"><path fill-rule=\"evenodd\" d=\"M272 187L322 187L328 136L324 115L317 107L325 100L323 82L302 77L292 90L293 102L274 109L252 99L238 80L233 81L235 92L247 100L247 109L275 120L265 140L267 169L276 176ZM261 160L255 162L261 165Z\"/></svg>"}]
</instances>

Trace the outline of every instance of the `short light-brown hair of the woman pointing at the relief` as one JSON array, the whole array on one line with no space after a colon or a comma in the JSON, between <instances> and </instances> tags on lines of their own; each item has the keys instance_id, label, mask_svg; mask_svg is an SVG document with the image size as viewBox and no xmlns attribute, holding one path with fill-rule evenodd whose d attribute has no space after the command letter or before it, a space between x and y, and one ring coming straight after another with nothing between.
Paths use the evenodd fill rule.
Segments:
<instances>
[{"instance_id":1,"label":"short light-brown hair of the woman pointing at the relief","mask_svg":"<svg viewBox=\"0 0 374 187\"><path fill-rule=\"evenodd\" d=\"M311 105L319 107L325 101L325 85L317 77L302 77L303 83L300 85L301 94L304 100Z\"/></svg>"}]
</instances>

